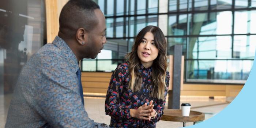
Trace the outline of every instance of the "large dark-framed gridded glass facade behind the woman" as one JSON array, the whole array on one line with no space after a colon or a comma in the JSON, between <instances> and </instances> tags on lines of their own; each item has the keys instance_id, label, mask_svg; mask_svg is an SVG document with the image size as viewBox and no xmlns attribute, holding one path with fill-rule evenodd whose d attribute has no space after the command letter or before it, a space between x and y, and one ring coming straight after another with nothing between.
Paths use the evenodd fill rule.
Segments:
<instances>
[{"instance_id":1,"label":"large dark-framed gridded glass facade behind the woman","mask_svg":"<svg viewBox=\"0 0 256 128\"><path fill-rule=\"evenodd\" d=\"M159 26L170 46L182 45L184 82L245 83L256 47L256 0L97 0L107 44L83 71L113 71L139 30ZM88 68L90 63L96 64Z\"/></svg>"}]
</instances>

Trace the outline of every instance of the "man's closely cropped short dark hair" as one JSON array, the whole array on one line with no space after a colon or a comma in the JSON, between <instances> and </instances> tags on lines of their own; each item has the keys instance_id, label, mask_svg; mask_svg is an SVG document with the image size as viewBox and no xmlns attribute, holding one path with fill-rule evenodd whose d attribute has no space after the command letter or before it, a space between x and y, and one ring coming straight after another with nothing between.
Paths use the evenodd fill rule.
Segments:
<instances>
[{"instance_id":1,"label":"man's closely cropped short dark hair","mask_svg":"<svg viewBox=\"0 0 256 128\"><path fill-rule=\"evenodd\" d=\"M60 31L71 37L80 27L92 30L98 24L95 9L99 9L99 5L92 0L69 0L60 13Z\"/></svg>"}]
</instances>

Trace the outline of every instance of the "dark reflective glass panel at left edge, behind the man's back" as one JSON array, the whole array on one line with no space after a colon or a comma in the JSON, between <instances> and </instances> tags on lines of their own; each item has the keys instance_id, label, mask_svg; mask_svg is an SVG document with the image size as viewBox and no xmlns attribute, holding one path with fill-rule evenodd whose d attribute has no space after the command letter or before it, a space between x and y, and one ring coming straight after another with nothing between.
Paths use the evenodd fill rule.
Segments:
<instances>
[{"instance_id":1,"label":"dark reflective glass panel at left edge, behind the man's back","mask_svg":"<svg viewBox=\"0 0 256 128\"><path fill-rule=\"evenodd\" d=\"M5 94L12 96L22 67L46 43L44 0L0 1L1 119L10 105Z\"/></svg>"}]
</instances>

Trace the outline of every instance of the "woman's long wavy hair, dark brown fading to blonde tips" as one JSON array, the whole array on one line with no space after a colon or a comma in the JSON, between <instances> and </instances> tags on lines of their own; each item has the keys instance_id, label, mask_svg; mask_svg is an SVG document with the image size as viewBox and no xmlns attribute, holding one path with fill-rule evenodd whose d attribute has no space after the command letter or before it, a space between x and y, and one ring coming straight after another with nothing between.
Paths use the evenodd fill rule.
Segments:
<instances>
[{"instance_id":1,"label":"woman's long wavy hair, dark brown fading to blonde tips","mask_svg":"<svg viewBox=\"0 0 256 128\"><path fill-rule=\"evenodd\" d=\"M167 57L166 57L166 48L167 42L163 32L159 27L156 26L147 26L144 27L135 39L135 43L132 46L132 52L128 53L125 56L126 61L129 62L129 74L130 81L128 88L133 92L139 91L142 83L142 76L139 73L140 69L140 59L138 57L138 46L142 42L144 35L147 32L151 32L154 35L155 46L159 50L157 58L153 61L152 72L151 72L151 81L153 84L153 90L150 94L151 97L163 99L165 98L165 76L167 69Z\"/></svg>"}]
</instances>

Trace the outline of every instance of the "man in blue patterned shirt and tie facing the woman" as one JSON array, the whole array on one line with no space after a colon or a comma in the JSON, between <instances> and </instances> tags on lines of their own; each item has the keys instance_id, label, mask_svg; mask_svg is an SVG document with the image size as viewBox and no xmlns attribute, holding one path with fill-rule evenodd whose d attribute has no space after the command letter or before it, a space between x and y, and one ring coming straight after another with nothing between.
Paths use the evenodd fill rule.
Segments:
<instances>
[{"instance_id":1,"label":"man in blue patterned shirt and tie facing the woman","mask_svg":"<svg viewBox=\"0 0 256 128\"><path fill-rule=\"evenodd\" d=\"M60 30L23 67L5 127L103 127L83 105L78 62L94 59L105 37L105 16L91 0L70 0L60 14Z\"/></svg>"}]
</instances>

